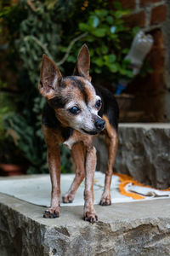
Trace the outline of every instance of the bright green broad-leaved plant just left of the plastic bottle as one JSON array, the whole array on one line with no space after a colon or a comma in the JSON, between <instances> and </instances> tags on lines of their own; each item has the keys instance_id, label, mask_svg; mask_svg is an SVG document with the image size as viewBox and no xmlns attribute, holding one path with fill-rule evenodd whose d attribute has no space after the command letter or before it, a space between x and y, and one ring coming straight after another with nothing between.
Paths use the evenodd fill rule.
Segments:
<instances>
[{"instance_id":1,"label":"bright green broad-leaved plant just left of the plastic bottle","mask_svg":"<svg viewBox=\"0 0 170 256\"><path fill-rule=\"evenodd\" d=\"M131 30L125 26L122 17L129 10L122 9L118 3L114 3L114 7L116 10L94 9L85 22L79 23L79 33L82 32L84 37L74 44L65 62L76 62L75 52L82 42L86 42L91 55L91 73L117 82L122 78L133 77L129 61L124 60L124 57L138 28ZM68 48L61 46L60 50L67 52Z\"/></svg>"}]
</instances>

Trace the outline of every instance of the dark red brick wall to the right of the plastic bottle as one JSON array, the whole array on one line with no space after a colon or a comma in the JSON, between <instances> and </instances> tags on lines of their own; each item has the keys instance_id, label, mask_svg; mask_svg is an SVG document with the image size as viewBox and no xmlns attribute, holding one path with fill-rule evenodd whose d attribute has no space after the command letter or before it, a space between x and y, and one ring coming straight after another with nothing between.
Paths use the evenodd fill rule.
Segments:
<instances>
[{"instance_id":1,"label":"dark red brick wall to the right of the plastic bottle","mask_svg":"<svg viewBox=\"0 0 170 256\"><path fill-rule=\"evenodd\" d=\"M144 111L145 121L170 121L169 103L167 104L170 102L168 92L170 90L168 89L170 88L170 1L119 0L119 2L122 3L123 8L132 9L130 15L125 17L127 25L139 26L154 38L153 47L146 57L153 72L144 78L136 77L125 90L127 93L138 95L138 106L133 103L131 107L139 112ZM148 103L144 104L144 100Z\"/></svg>"}]
</instances>

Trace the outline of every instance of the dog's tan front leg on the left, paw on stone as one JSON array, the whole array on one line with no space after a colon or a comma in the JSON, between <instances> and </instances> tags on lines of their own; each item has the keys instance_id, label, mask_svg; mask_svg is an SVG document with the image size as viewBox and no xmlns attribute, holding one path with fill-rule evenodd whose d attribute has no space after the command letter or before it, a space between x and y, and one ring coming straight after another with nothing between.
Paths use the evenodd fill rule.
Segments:
<instances>
[{"instance_id":1,"label":"dog's tan front leg on the left, paw on stone","mask_svg":"<svg viewBox=\"0 0 170 256\"><path fill-rule=\"evenodd\" d=\"M59 217L59 196L60 196L60 155L59 146L48 146L48 169L51 177L51 207L44 212L44 218Z\"/></svg>"}]
</instances>

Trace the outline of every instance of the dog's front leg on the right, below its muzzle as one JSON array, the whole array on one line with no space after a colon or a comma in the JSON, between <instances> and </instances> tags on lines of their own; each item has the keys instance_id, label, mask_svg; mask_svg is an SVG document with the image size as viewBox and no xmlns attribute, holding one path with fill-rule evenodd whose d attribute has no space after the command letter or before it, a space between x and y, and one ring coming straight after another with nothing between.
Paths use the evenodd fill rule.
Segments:
<instances>
[{"instance_id":1,"label":"dog's front leg on the right, below its muzzle","mask_svg":"<svg viewBox=\"0 0 170 256\"><path fill-rule=\"evenodd\" d=\"M84 190L84 220L94 223L98 219L94 210L94 172L96 167L96 150L88 147L86 152L86 178Z\"/></svg>"}]
</instances>

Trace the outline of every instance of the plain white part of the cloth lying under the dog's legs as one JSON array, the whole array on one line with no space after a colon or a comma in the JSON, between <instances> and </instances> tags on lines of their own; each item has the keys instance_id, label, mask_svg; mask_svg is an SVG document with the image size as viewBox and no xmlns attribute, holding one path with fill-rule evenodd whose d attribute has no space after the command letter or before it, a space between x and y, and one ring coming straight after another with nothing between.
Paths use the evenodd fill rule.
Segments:
<instances>
[{"instance_id":1,"label":"plain white part of the cloth lying under the dog's legs","mask_svg":"<svg viewBox=\"0 0 170 256\"><path fill-rule=\"evenodd\" d=\"M62 196L69 190L75 177L74 173L61 174L60 177L60 205L65 206L83 206L84 181L77 189L77 193L72 204L62 203ZM133 201L133 198L121 195L119 192L119 177L113 175L111 178L111 201L125 202ZM94 204L99 204L103 194L105 184L105 174L95 172L94 175ZM0 177L0 193L12 195L20 200L36 204L38 206L49 207L51 200L51 182L49 174L35 174L23 176ZM36 196L35 196L36 195ZM150 199L150 198L149 198Z\"/></svg>"}]
</instances>

